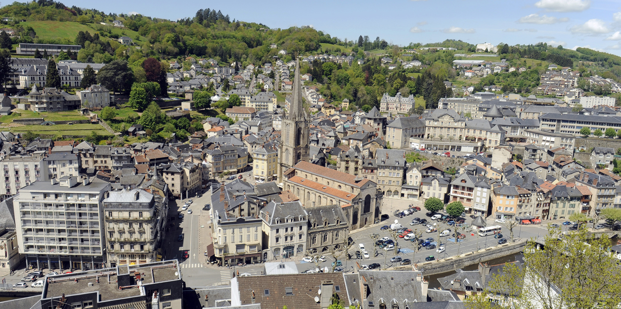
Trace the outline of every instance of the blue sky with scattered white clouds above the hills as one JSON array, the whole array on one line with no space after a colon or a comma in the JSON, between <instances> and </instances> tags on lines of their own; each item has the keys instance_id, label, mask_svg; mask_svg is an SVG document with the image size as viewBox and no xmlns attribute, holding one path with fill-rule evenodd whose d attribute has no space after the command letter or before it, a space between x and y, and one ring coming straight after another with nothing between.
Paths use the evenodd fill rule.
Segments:
<instances>
[{"instance_id":1,"label":"blue sky with scattered white clouds above the hills","mask_svg":"<svg viewBox=\"0 0 621 309\"><path fill-rule=\"evenodd\" d=\"M621 0L60 1L170 20L209 7L271 28L312 25L333 37L379 36L398 45L446 38L494 45L547 42L621 55Z\"/></svg>"}]
</instances>

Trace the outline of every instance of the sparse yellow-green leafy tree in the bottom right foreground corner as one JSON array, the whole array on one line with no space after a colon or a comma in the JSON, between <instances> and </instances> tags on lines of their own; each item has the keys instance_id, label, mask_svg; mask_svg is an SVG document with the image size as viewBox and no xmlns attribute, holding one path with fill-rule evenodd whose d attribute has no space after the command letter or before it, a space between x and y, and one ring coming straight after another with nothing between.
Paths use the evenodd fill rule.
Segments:
<instances>
[{"instance_id":1,"label":"sparse yellow-green leafy tree in the bottom right foreground corner","mask_svg":"<svg viewBox=\"0 0 621 309\"><path fill-rule=\"evenodd\" d=\"M548 230L545 248L529 242L522 250L527 265L507 263L492 275L480 296L465 300L468 309L490 308L617 308L621 271L609 254L608 238L592 238L585 229L562 233Z\"/></svg>"}]
</instances>

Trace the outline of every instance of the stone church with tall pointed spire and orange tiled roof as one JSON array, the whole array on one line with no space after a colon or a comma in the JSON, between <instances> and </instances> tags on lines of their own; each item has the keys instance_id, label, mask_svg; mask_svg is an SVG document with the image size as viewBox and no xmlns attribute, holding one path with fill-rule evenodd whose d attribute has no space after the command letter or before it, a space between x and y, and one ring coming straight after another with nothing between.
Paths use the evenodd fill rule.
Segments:
<instances>
[{"instance_id":1,"label":"stone church with tall pointed spire and orange tiled roof","mask_svg":"<svg viewBox=\"0 0 621 309\"><path fill-rule=\"evenodd\" d=\"M311 117L302 105L299 63L290 109L283 116L278 154L278 183L296 195L307 211L337 205L345 213L350 230L379 222L384 192L370 179L310 163Z\"/></svg>"}]
</instances>

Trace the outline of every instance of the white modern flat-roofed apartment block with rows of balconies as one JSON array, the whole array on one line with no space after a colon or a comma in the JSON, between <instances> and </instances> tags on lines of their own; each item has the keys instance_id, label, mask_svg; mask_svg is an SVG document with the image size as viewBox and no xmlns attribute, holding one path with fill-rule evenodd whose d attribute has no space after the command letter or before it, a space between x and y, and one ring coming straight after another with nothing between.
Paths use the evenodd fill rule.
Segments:
<instances>
[{"instance_id":1,"label":"white modern flat-roofed apartment block with rows of balconies","mask_svg":"<svg viewBox=\"0 0 621 309\"><path fill-rule=\"evenodd\" d=\"M25 186L14 197L17 245L27 265L100 269L104 254L102 200L108 183L64 176Z\"/></svg>"}]
</instances>

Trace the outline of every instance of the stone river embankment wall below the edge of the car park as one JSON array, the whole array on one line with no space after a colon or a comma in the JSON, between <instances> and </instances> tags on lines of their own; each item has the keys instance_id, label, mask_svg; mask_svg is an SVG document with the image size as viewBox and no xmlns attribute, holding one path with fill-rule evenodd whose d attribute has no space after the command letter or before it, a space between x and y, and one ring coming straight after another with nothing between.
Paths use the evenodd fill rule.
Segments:
<instances>
[{"instance_id":1,"label":"stone river embankment wall below the edge of the car park","mask_svg":"<svg viewBox=\"0 0 621 309\"><path fill-rule=\"evenodd\" d=\"M458 257L424 262L417 264L416 266L423 272L423 275L442 274L443 272L456 271L457 269L468 265L478 264L491 259L502 258L503 256L519 253L522 251L524 246L526 246L526 243L527 241L523 240L512 244L501 244L497 247L491 247L477 252L464 253Z\"/></svg>"}]
</instances>

